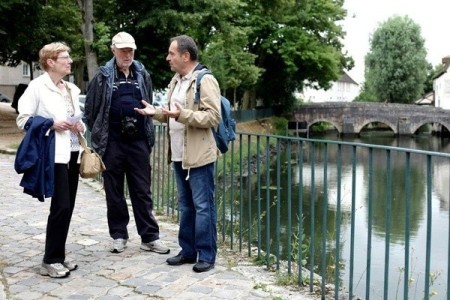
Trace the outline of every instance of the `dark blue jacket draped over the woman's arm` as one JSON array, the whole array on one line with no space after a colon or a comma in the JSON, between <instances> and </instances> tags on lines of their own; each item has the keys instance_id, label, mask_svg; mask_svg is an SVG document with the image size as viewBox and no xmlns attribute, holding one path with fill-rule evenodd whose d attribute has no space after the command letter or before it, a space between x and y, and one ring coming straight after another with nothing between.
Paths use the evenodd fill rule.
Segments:
<instances>
[{"instance_id":1,"label":"dark blue jacket draped over the woman's arm","mask_svg":"<svg viewBox=\"0 0 450 300\"><path fill-rule=\"evenodd\" d=\"M29 118L26 134L17 149L14 168L23 173L23 192L39 201L53 196L55 167L55 132L53 120L40 116Z\"/></svg>"}]
</instances>

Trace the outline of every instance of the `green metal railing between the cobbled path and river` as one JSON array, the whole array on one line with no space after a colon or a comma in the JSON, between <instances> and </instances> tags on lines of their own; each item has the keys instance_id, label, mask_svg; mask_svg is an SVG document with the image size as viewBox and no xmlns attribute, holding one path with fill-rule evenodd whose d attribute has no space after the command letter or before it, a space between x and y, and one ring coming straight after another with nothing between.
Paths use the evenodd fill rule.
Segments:
<instances>
[{"instance_id":1,"label":"green metal railing between the cobbled path and river","mask_svg":"<svg viewBox=\"0 0 450 300\"><path fill-rule=\"evenodd\" d=\"M155 209L176 219L166 130L155 125L151 189ZM322 298L331 286L335 299L449 299L449 158L238 133L215 168L221 247Z\"/></svg>"}]
</instances>

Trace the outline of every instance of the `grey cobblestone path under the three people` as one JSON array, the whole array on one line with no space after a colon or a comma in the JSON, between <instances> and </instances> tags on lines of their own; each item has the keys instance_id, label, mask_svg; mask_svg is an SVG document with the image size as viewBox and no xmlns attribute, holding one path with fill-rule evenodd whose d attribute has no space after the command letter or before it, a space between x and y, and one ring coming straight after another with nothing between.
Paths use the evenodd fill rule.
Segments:
<instances>
[{"instance_id":1,"label":"grey cobblestone path under the three people","mask_svg":"<svg viewBox=\"0 0 450 300\"><path fill-rule=\"evenodd\" d=\"M0 300L3 299L318 299L307 289L277 286L275 274L221 249L216 267L195 273L192 265L165 262L179 251L178 226L157 216L167 255L139 249L130 209L128 248L109 252L106 204L101 187L80 179L67 241L67 258L79 268L63 279L39 275L50 199L23 193L14 155L0 151ZM225 248L225 246L224 246ZM242 256L245 256L243 253Z\"/></svg>"}]
</instances>

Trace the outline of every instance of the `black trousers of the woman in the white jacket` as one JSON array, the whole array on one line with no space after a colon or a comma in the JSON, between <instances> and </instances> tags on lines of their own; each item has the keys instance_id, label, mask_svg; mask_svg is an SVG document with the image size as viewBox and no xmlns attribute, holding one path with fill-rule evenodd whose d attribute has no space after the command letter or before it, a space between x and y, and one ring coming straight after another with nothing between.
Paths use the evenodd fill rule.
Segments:
<instances>
[{"instance_id":1,"label":"black trousers of the woman in the white jacket","mask_svg":"<svg viewBox=\"0 0 450 300\"><path fill-rule=\"evenodd\" d=\"M44 262L63 263L70 220L78 189L78 151L72 152L69 164L55 164L55 190L47 221Z\"/></svg>"}]
</instances>

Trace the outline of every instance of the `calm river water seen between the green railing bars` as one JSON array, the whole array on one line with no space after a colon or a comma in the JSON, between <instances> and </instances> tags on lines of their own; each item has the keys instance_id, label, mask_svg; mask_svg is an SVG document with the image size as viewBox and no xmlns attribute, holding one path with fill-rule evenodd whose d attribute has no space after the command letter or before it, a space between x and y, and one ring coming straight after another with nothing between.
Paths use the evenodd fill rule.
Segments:
<instances>
[{"instance_id":1,"label":"calm river water seen between the green railing bars","mask_svg":"<svg viewBox=\"0 0 450 300\"><path fill-rule=\"evenodd\" d=\"M357 142L366 144L387 145L409 149L431 150L438 152L450 152L450 141L448 138L439 138L431 135L419 135L411 137L392 137L389 135L368 134L362 138L341 139L336 135L323 136L321 139L345 140L347 142ZM326 243L329 246L326 254L327 261L327 281L334 280L334 248L336 247L336 219L340 218L339 253L340 253L340 273L339 280L345 287L349 286L350 274L350 254L351 254L351 207L352 207L352 165L350 148L342 148L342 169L341 169L341 191L340 191L340 214L337 213L336 196L338 193L338 168L336 163L337 148L330 147L327 158L326 186L328 203L326 212L323 207L323 187L324 183L324 161L320 153L320 147L316 149L318 153L315 161L314 193L313 202L311 198L311 162L307 162L302 170L293 168L293 185L299 185L300 178L303 188L303 224L306 236L311 238L311 215L314 214L314 244L316 249L321 249L323 226L326 224ZM427 170L426 159L423 156L411 156L411 179L410 179L410 200L405 201L406 179L405 155L403 153L392 152L390 167L392 169L391 188L387 187L387 162L384 151L374 151L373 168L373 190L371 192L372 218L369 220L369 168L367 165L367 149L357 150L356 162L356 191L355 191L355 226L354 226L354 273L353 291L354 294L364 298L366 288L370 289L370 299L383 299L384 287L387 286L388 299L403 299L404 282L404 262L405 262L405 227L407 207L410 215L410 247L409 247L409 299L423 299L425 286L425 253L427 241ZM308 157L309 154L305 154ZM285 172L285 171L283 171ZM300 172L302 174L300 174ZM431 265L430 265L430 293L435 294L434 299L447 299L447 269L449 261L449 183L450 168L448 159L436 159L432 164L432 190L431 190ZM275 174L273 175L275 176ZM281 178L287 178L283 173ZM273 179L275 180L275 178ZM282 182L282 199L286 197L284 191L291 188L292 199L298 199L300 189L288 187L287 182ZM386 200L391 199L391 202ZM334 199L334 200L333 200ZM313 203L314 209L311 209ZM255 204L252 204L255 207ZM386 214L386 207L390 205L392 212ZM291 207L281 205L280 215L282 242L286 239L287 219L285 216L288 210L293 214L298 211L295 201ZM244 211L246 208L244 208ZM276 208L271 212L271 223L275 224ZM326 214L326 222L322 222ZM293 219L296 219L294 216ZM387 222L388 219L390 222ZM262 220L264 224L264 220ZM369 230L371 224L371 231ZM293 228L296 228L294 224ZM387 226L390 227L390 235L386 235ZM273 229L271 229L273 230ZM371 256L368 256L367 241L371 232ZM272 236L279 233L272 232ZM389 239L390 246L386 249L386 240ZM263 243L264 244L264 243ZM334 244L334 245L333 245ZM282 249L282 256L286 256L286 249ZM386 256L388 253L388 256ZM315 253L315 266L320 265L320 250ZM386 258L389 260L389 268L385 270ZM367 261L370 258L370 284L367 284ZM309 266L307 266L309 267ZM316 272L318 269L315 270ZM387 279L385 274L388 274ZM387 285L385 285L387 280Z\"/></svg>"}]
</instances>

